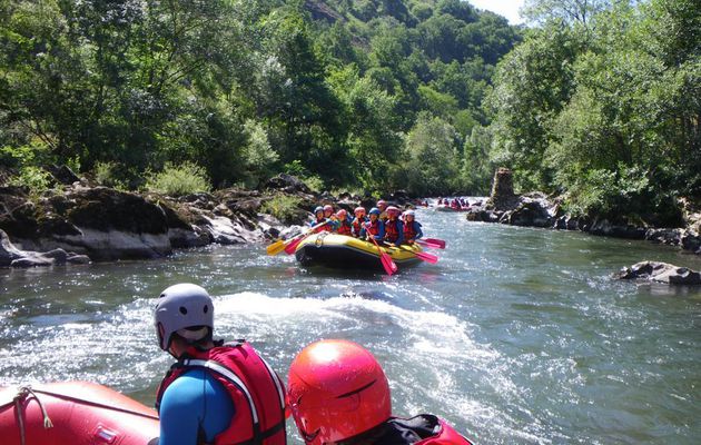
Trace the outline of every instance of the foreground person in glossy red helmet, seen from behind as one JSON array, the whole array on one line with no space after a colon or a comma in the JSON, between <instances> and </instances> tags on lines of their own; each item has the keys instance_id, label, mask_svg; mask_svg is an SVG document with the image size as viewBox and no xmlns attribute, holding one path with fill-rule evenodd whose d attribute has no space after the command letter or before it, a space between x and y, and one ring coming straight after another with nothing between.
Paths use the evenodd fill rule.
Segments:
<instances>
[{"instance_id":1,"label":"foreground person in glossy red helmet, seen from behind","mask_svg":"<svg viewBox=\"0 0 701 445\"><path fill-rule=\"evenodd\" d=\"M353 342L305 347L289 367L287 396L307 445L472 445L444 419L392 415L387 377L373 355Z\"/></svg>"}]
</instances>

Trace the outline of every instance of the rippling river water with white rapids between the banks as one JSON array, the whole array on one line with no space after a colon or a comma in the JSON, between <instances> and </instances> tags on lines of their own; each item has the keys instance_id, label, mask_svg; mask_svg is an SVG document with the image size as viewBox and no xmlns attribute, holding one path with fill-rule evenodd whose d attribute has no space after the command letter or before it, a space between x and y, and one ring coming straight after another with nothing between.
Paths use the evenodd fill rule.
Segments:
<instances>
[{"instance_id":1,"label":"rippling river water with white rapids between the banks","mask_svg":"<svg viewBox=\"0 0 701 445\"><path fill-rule=\"evenodd\" d=\"M611 277L700 258L458 214L417 219L448 248L391 278L303 269L264 246L0 270L0 386L86 379L152 404L171 362L154 299L192 281L215 297L216 336L247 338L284 378L308 343L352 339L384 365L396 415L438 414L480 444L700 443L701 288Z\"/></svg>"}]
</instances>

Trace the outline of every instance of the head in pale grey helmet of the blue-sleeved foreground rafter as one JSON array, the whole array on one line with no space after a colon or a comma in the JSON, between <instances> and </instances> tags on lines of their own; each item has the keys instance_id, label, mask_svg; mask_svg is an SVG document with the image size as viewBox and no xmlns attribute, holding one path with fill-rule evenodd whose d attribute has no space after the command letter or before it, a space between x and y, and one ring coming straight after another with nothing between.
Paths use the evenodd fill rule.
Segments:
<instances>
[{"instance_id":1,"label":"head in pale grey helmet of the blue-sleeved foreground rafter","mask_svg":"<svg viewBox=\"0 0 701 445\"><path fill-rule=\"evenodd\" d=\"M168 350L172 335L196 342L214 330L214 305L207 290L181 283L170 286L158 297L155 314L158 346Z\"/></svg>"}]
</instances>

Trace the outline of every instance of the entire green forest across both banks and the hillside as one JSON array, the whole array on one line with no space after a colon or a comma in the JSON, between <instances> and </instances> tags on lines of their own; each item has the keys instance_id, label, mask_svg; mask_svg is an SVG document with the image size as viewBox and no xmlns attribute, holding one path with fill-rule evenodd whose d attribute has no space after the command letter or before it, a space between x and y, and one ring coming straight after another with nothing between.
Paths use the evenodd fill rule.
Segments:
<instances>
[{"instance_id":1,"label":"entire green forest across both banks and the hillside","mask_svg":"<svg viewBox=\"0 0 701 445\"><path fill-rule=\"evenodd\" d=\"M488 192L655 225L701 200L694 0L8 0L0 165L140 189L278 172L323 190ZM649 220L648 220L649 219Z\"/></svg>"}]
</instances>

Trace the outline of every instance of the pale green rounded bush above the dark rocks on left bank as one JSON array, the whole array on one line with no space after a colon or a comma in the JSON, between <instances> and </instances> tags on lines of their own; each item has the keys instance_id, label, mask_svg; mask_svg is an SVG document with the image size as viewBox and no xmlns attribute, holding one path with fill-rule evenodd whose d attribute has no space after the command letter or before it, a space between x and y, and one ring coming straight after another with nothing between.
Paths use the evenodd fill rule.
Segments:
<instances>
[{"instance_id":1,"label":"pale green rounded bush above the dark rocks on left bank","mask_svg":"<svg viewBox=\"0 0 701 445\"><path fill-rule=\"evenodd\" d=\"M169 196L209 191L211 185L205 169L194 162L166 164L162 171L148 175L146 189Z\"/></svg>"}]
</instances>

